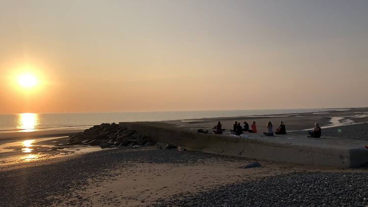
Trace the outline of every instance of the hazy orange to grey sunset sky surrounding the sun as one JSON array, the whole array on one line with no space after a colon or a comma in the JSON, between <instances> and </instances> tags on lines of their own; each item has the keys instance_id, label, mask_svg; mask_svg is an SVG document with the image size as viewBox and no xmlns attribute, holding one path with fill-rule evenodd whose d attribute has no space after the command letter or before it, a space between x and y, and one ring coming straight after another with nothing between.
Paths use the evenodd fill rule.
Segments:
<instances>
[{"instance_id":1,"label":"hazy orange to grey sunset sky surrounding the sun","mask_svg":"<svg viewBox=\"0 0 368 207\"><path fill-rule=\"evenodd\" d=\"M367 0L0 1L0 113L368 106L367 80Z\"/></svg>"}]
</instances>

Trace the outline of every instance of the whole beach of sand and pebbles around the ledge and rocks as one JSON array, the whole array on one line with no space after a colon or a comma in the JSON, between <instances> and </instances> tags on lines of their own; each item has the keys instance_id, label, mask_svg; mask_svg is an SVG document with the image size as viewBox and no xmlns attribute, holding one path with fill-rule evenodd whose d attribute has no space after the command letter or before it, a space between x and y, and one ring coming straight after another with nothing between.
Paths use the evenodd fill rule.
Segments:
<instances>
[{"instance_id":1,"label":"whole beach of sand and pebbles around the ledge and rocks","mask_svg":"<svg viewBox=\"0 0 368 207\"><path fill-rule=\"evenodd\" d=\"M342 122L331 122L330 117L340 117L340 121L354 120L352 116L365 113L361 110L359 114L356 112L226 117L168 123L206 129L220 120L225 129L231 129L235 120L256 120L257 123L283 120L287 129L293 130L291 133L305 133L302 130L319 122L328 127L323 129L325 136L368 140L366 123L340 126ZM337 126L331 127L334 124ZM260 131L265 130L261 124L259 126ZM6 144L39 139L33 143L34 146L54 149L67 142L68 136L59 136L69 132L28 132L29 136L24 132L3 133L0 141ZM21 136L17 136L19 134ZM80 150L83 147L86 146L68 146L71 153L62 155L37 148L40 154L47 155L44 159L2 165L0 193L3 199L0 206L368 205L368 191L365 190L368 188L367 166L338 169L154 147L101 149L97 146L92 151ZM18 154L23 153L18 151ZM258 161L261 167L240 168L254 161Z\"/></svg>"}]
</instances>

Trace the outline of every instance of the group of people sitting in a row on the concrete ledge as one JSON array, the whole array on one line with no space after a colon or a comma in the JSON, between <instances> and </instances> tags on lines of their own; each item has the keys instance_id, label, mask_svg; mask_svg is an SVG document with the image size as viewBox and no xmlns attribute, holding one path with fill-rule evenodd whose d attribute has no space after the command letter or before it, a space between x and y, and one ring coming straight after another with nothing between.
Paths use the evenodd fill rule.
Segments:
<instances>
[{"instance_id":1,"label":"group of people sitting in a row on the concrete ledge","mask_svg":"<svg viewBox=\"0 0 368 207\"><path fill-rule=\"evenodd\" d=\"M244 122L243 124L244 126L242 127L240 125L240 122L235 121L233 125L233 130L231 130L231 132L235 135L240 135L240 134L243 134L244 132L257 133L257 125L255 121L252 122L251 129L249 129L249 125L247 122ZM213 133L222 134L223 129L222 129L221 122L219 121L217 125L213 127L213 129L215 129ZM267 132L263 132L263 134L266 136L273 136L274 133L275 134L286 134L286 126L283 121L280 122L280 126L279 128L276 129L275 132L273 131L272 123L270 121L267 122ZM321 128L319 127L318 122L315 123L315 128L313 130L308 131L308 133L309 133L308 137L315 137L315 138L321 137L322 131L321 131Z\"/></svg>"}]
</instances>

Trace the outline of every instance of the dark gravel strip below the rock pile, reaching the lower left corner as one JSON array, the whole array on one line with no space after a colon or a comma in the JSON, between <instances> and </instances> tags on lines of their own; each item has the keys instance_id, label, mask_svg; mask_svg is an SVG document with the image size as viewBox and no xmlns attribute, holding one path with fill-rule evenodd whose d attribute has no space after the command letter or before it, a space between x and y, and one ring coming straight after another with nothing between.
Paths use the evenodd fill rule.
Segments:
<instances>
[{"instance_id":1,"label":"dark gravel strip below the rock pile, reaching the lower left corner","mask_svg":"<svg viewBox=\"0 0 368 207\"><path fill-rule=\"evenodd\" d=\"M0 206L50 206L66 198L83 204L79 195L73 194L73 189L83 190L89 178L108 179L113 176L109 170L124 168L131 162L194 164L210 159L231 161L244 158L176 150L104 150L53 164L0 172Z\"/></svg>"}]
</instances>

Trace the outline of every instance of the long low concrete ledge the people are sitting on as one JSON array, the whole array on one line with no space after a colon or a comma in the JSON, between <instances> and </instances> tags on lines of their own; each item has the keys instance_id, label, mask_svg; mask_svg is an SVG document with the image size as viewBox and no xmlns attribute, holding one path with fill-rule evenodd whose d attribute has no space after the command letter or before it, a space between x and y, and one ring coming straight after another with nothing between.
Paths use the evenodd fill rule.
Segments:
<instances>
[{"instance_id":1,"label":"long low concrete ledge the people are sitting on","mask_svg":"<svg viewBox=\"0 0 368 207\"><path fill-rule=\"evenodd\" d=\"M119 124L151 136L155 141L184 146L192 151L339 168L368 163L368 149L364 148L368 142L364 140L317 139L289 134L267 137L260 133L249 133L251 137L241 138L230 134L203 134L196 129L158 122Z\"/></svg>"}]
</instances>

